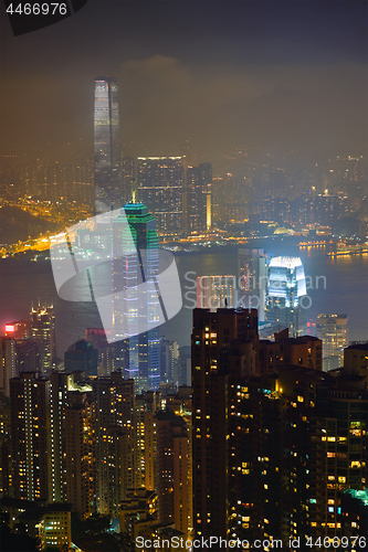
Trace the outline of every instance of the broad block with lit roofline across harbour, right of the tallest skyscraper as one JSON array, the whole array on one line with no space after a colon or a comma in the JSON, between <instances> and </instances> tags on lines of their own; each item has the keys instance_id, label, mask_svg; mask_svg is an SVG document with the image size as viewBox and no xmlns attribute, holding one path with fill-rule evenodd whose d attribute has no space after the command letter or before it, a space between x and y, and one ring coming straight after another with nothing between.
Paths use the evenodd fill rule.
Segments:
<instances>
[{"instance_id":1,"label":"broad block with lit roofline across harbour, right of the tallest skyscraper","mask_svg":"<svg viewBox=\"0 0 368 552\"><path fill-rule=\"evenodd\" d=\"M181 232L185 169L182 157L139 157L137 195L154 213L161 235Z\"/></svg>"}]
</instances>

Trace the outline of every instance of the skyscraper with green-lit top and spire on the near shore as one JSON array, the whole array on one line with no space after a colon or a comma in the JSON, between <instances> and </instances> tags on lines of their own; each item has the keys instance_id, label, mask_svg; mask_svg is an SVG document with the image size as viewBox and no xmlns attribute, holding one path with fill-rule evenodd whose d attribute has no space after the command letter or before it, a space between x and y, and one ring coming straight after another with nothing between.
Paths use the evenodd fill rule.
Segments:
<instances>
[{"instance_id":1,"label":"skyscraper with green-lit top and spire on the near shore","mask_svg":"<svg viewBox=\"0 0 368 552\"><path fill-rule=\"evenodd\" d=\"M116 328L128 321L125 340L124 371L127 378L135 380L137 392L155 390L160 384L160 346L159 328L154 327L159 317L159 299L157 297L155 277L158 275L158 237L156 221L146 205L135 200L126 203L126 220L116 217L113 222L115 251L122 250L122 257L114 259L114 282L116 290L122 282L126 286L124 308L114 311ZM132 250L132 238L134 251ZM137 252L137 253L136 253ZM147 283L144 295L138 297L140 283ZM140 320L148 321L147 331L139 332Z\"/></svg>"}]
</instances>

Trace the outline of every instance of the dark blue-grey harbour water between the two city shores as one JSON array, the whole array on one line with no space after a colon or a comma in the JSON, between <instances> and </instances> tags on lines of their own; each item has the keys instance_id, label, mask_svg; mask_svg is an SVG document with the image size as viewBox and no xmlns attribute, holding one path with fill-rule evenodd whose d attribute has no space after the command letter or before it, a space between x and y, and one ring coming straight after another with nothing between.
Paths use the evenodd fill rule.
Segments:
<instances>
[{"instance_id":1,"label":"dark blue-grey harbour water between the two city shores","mask_svg":"<svg viewBox=\"0 0 368 552\"><path fill-rule=\"evenodd\" d=\"M299 248L287 240L252 241L251 247L263 247L273 256L299 256L309 288L311 307L307 319L315 322L320 312L349 315L349 340L368 340L368 254L327 256L324 247ZM194 280L204 275L235 275L236 248L203 250L177 257L183 307L170 321L160 327L161 335L190 343L196 289ZM92 302L70 302L57 297L49 261L32 263L25 259L1 259L0 325L28 317L32 302L53 304L56 316L57 355L78 338L85 328L102 327L98 311ZM73 317L72 317L73 315ZM1 331L2 332L2 331Z\"/></svg>"}]
</instances>

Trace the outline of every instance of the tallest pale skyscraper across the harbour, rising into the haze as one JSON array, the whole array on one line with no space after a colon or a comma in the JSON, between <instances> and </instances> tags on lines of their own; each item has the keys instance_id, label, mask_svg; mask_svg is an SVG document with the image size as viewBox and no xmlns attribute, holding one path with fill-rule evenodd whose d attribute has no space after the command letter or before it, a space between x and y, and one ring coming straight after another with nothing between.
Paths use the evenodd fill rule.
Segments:
<instances>
[{"instance_id":1,"label":"tallest pale skyscraper across the harbour, rising into the haze","mask_svg":"<svg viewBox=\"0 0 368 552\"><path fill-rule=\"evenodd\" d=\"M95 214L123 206L117 78L95 77Z\"/></svg>"}]
</instances>

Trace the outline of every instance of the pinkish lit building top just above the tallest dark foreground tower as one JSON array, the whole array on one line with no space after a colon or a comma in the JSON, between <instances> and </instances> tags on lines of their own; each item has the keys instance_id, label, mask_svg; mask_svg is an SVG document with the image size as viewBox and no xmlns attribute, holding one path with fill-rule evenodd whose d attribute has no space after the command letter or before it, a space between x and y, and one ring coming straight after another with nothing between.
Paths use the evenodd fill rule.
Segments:
<instances>
[{"instance_id":1,"label":"pinkish lit building top just above the tallest dark foreground tower","mask_svg":"<svg viewBox=\"0 0 368 552\"><path fill-rule=\"evenodd\" d=\"M197 278L197 308L217 310L236 306L235 276L199 276Z\"/></svg>"}]
</instances>

